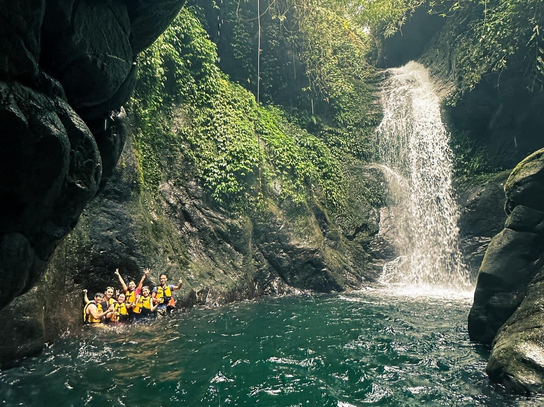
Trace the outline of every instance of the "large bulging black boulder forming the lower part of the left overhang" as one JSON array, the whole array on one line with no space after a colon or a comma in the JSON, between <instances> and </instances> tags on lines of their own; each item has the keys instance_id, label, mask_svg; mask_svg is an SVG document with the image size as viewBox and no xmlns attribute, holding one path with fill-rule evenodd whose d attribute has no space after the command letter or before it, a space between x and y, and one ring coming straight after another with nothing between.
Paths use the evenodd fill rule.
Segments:
<instances>
[{"instance_id":1,"label":"large bulging black boulder forming the lower part of the left overhang","mask_svg":"<svg viewBox=\"0 0 544 407\"><path fill-rule=\"evenodd\" d=\"M97 192L100 155L63 97L0 82L0 304L28 291Z\"/></svg>"}]
</instances>

